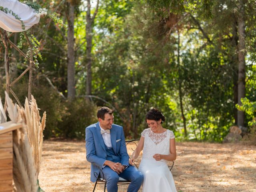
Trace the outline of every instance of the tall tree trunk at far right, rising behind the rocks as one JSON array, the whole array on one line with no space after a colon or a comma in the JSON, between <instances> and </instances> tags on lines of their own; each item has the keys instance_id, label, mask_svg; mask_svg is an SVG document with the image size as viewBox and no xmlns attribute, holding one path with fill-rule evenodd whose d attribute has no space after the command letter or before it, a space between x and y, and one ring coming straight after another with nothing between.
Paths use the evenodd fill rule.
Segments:
<instances>
[{"instance_id":1,"label":"tall tree trunk at far right, rising behind the rocks","mask_svg":"<svg viewBox=\"0 0 256 192\"><path fill-rule=\"evenodd\" d=\"M240 0L238 4L238 104L241 105L241 98L245 97L245 21L244 21L244 1ZM238 126L244 126L244 112L238 110Z\"/></svg>"}]
</instances>

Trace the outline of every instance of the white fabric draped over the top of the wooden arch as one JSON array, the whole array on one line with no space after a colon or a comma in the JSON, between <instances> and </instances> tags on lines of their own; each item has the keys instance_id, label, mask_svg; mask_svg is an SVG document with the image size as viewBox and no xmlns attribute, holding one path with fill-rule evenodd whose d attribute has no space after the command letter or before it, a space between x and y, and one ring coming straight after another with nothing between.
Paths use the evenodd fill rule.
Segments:
<instances>
[{"instance_id":1,"label":"white fabric draped over the top of the wooden arch","mask_svg":"<svg viewBox=\"0 0 256 192\"><path fill-rule=\"evenodd\" d=\"M25 30L31 28L40 20L40 16L36 16L36 12L33 8L18 0L0 0L0 6L16 13L24 22ZM2 11L0 11L0 27L9 32L23 31L20 20L16 19L12 14L6 14Z\"/></svg>"}]
</instances>

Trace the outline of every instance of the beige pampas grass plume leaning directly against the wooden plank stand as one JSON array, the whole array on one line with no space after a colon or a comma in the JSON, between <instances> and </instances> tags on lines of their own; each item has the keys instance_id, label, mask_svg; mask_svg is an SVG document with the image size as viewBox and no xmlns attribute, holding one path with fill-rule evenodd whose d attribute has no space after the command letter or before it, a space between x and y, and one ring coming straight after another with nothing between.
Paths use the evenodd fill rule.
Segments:
<instances>
[{"instance_id":1,"label":"beige pampas grass plume leaning directly against the wooden plank stand","mask_svg":"<svg viewBox=\"0 0 256 192\"><path fill-rule=\"evenodd\" d=\"M16 104L12 103L6 93L7 111L10 119L14 123L22 123L22 128L13 132L13 180L15 184L14 190L17 192L37 192L37 176L36 167L34 165L33 149L29 144L27 136L27 127Z\"/></svg>"}]
</instances>

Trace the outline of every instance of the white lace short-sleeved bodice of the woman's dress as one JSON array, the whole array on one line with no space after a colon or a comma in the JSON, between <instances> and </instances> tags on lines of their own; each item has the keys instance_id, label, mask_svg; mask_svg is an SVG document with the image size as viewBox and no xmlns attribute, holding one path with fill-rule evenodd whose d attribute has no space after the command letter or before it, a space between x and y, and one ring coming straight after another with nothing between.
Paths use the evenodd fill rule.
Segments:
<instances>
[{"instance_id":1,"label":"white lace short-sleeved bodice of the woman's dress","mask_svg":"<svg viewBox=\"0 0 256 192\"><path fill-rule=\"evenodd\" d=\"M175 138L172 131L166 130L158 134L152 132L151 128L148 128L141 133L141 136L144 137L142 158L154 159L154 154L170 154L170 139Z\"/></svg>"}]
</instances>

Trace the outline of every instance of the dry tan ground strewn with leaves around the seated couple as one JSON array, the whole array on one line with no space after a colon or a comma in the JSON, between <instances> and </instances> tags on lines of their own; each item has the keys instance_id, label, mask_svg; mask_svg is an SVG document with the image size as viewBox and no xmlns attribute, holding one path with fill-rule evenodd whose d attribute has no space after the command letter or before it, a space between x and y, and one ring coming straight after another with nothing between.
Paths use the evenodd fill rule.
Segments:
<instances>
[{"instance_id":1,"label":"dry tan ground strewn with leaves around the seated couple","mask_svg":"<svg viewBox=\"0 0 256 192\"><path fill-rule=\"evenodd\" d=\"M256 146L177 142L176 150L172 175L178 192L256 192ZM92 192L85 154L85 142L44 141L40 187L45 192ZM119 186L118 191L126 189ZM95 191L103 192L103 185Z\"/></svg>"}]
</instances>

